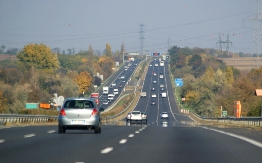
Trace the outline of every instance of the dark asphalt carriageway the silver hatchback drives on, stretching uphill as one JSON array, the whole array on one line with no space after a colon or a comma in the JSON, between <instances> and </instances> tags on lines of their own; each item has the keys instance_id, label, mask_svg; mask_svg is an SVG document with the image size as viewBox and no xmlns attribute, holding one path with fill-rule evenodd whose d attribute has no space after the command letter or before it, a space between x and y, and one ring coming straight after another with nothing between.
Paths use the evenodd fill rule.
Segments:
<instances>
[{"instance_id":1,"label":"dark asphalt carriageway the silver hatchback drives on, stretching uphill","mask_svg":"<svg viewBox=\"0 0 262 163\"><path fill-rule=\"evenodd\" d=\"M123 119L103 125L101 134L78 130L58 134L57 126L0 128L0 163L261 163L261 130L207 127L181 114L167 61L164 67L154 67L156 62L143 81L147 97L135 107L147 112L147 124ZM159 79L161 71L164 79ZM165 85L168 98L159 97L159 84ZM153 86L156 106L150 105ZM166 124L160 120L163 111L170 117Z\"/></svg>"}]
</instances>

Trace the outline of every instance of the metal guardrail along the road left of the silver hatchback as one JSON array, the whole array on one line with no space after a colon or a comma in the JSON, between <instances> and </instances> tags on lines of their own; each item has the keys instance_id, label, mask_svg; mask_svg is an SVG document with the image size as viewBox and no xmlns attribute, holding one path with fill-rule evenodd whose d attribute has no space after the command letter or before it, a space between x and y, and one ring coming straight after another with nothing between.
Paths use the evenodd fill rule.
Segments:
<instances>
[{"instance_id":1,"label":"metal guardrail along the road left of the silver hatchback","mask_svg":"<svg viewBox=\"0 0 262 163\"><path fill-rule=\"evenodd\" d=\"M57 119L58 116L0 114L0 126L6 123L45 123Z\"/></svg>"}]
</instances>

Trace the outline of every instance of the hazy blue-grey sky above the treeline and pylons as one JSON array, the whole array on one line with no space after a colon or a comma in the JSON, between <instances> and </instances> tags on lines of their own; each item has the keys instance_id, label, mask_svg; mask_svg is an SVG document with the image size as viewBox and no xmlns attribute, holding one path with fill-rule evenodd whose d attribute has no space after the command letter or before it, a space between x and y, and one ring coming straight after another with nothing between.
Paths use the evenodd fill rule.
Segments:
<instances>
[{"instance_id":1,"label":"hazy blue-grey sky above the treeline and pylons","mask_svg":"<svg viewBox=\"0 0 262 163\"><path fill-rule=\"evenodd\" d=\"M215 48L233 42L230 51L252 52L256 0L0 0L0 46L23 48L43 43L67 50L138 52L140 24L144 46L167 52L170 46ZM244 25L244 27L243 27ZM226 47L224 47L226 48Z\"/></svg>"}]
</instances>

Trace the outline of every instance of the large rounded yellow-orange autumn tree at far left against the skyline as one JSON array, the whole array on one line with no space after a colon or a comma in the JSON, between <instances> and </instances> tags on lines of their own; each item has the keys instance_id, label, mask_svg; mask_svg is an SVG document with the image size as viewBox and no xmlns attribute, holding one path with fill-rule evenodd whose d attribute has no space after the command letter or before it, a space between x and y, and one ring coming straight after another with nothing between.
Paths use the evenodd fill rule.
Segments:
<instances>
[{"instance_id":1,"label":"large rounded yellow-orange autumn tree at far left against the skyline","mask_svg":"<svg viewBox=\"0 0 262 163\"><path fill-rule=\"evenodd\" d=\"M57 55L44 44L28 44L18 53L19 64L25 70L31 67L43 70L47 73L54 73L59 67Z\"/></svg>"}]
</instances>

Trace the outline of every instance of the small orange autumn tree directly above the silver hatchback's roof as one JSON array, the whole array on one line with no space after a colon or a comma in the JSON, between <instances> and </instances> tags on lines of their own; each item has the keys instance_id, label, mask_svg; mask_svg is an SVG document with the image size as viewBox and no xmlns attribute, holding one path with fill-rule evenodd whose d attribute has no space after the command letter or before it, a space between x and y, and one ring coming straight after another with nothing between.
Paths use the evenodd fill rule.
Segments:
<instances>
[{"instance_id":1,"label":"small orange autumn tree directly above the silver hatchback's roof","mask_svg":"<svg viewBox=\"0 0 262 163\"><path fill-rule=\"evenodd\" d=\"M88 72L82 72L76 76L74 82L79 85L79 93L86 92L89 86L92 85L92 77Z\"/></svg>"}]
</instances>

